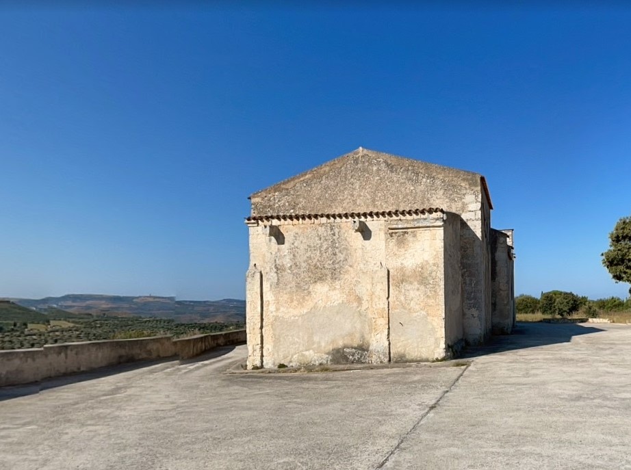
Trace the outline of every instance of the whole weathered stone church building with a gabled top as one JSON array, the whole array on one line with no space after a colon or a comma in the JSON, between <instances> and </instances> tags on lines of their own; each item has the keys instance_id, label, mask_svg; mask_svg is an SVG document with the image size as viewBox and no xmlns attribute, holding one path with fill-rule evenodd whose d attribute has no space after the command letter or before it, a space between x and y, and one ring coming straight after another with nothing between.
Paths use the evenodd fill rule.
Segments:
<instances>
[{"instance_id":1,"label":"whole weathered stone church building with a gabled top","mask_svg":"<svg viewBox=\"0 0 631 470\"><path fill-rule=\"evenodd\" d=\"M250 200L250 369L433 361L513 328L513 231L480 174L359 148Z\"/></svg>"}]
</instances>

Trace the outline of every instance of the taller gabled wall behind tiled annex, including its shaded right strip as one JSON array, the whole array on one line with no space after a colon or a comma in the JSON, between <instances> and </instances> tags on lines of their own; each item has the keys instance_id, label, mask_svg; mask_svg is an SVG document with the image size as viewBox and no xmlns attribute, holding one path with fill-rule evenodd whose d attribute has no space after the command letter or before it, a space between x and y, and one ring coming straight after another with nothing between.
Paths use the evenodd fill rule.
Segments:
<instances>
[{"instance_id":1,"label":"taller gabled wall behind tiled annex, including its shaded right strip","mask_svg":"<svg viewBox=\"0 0 631 470\"><path fill-rule=\"evenodd\" d=\"M252 215L441 207L461 215L464 335L491 331L490 204L480 174L359 148L250 196ZM488 229L487 229L488 231Z\"/></svg>"}]
</instances>

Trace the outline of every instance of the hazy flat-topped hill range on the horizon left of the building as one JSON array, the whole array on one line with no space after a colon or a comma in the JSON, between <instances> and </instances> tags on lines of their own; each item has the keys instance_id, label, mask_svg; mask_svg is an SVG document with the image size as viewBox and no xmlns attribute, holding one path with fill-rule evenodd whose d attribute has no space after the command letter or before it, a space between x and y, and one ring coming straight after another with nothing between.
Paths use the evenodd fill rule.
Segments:
<instances>
[{"instance_id":1,"label":"hazy flat-topped hill range on the horizon left of the building","mask_svg":"<svg viewBox=\"0 0 631 470\"><path fill-rule=\"evenodd\" d=\"M42 299L10 299L15 304L62 317L65 313L172 318L177 322L243 322L244 300L175 300L159 296L68 294ZM60 313L62 310L65 313ZM34 312L37 313L37 312ZM66 316L67 317L67 316ZM23 320L25 321L25 320Z\"/></svg>"}]
</instances>

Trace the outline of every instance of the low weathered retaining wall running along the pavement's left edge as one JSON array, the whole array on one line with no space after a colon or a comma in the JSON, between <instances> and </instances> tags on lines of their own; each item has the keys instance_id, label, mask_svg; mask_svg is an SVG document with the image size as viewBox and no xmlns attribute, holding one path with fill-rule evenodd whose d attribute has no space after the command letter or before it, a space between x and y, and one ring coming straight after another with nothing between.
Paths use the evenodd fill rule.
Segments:
<instances>
[{"instance_id":1,"label":"low weathered retaining wall running along the pavement's left edge","mask_svg":"<svg viewBox=\"0 0 631 470\"><path fill-rule=\"evenodd\" d=\"M44 378L134 361L152 361L172 356L190 358L218 346L243 343L245 340L246 331L235 330L183 339L160 336L0 350L0 387L38 382Z\"/></svg>"}]
</instances>

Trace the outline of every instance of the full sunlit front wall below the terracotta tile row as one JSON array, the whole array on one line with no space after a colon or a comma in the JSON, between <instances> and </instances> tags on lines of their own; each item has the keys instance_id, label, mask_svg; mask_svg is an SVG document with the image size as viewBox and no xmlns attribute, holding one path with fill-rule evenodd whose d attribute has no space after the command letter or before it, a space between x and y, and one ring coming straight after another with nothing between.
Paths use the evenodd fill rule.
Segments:
<instances>
[{"instance_id":1,"label":"full sunlit front wall below the terracotta tile row","mask_svg":"<svg viewBox=\"0 0 631 470\"><path fill-rule=\"evenodd\" d=\"M443 358L445 293L461 283L458 256L445 283L443 217L251 224L248 367Z\"/></svg>"}]
</instances>

